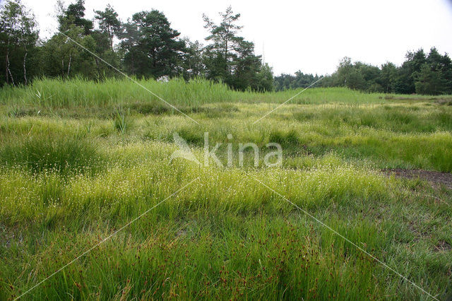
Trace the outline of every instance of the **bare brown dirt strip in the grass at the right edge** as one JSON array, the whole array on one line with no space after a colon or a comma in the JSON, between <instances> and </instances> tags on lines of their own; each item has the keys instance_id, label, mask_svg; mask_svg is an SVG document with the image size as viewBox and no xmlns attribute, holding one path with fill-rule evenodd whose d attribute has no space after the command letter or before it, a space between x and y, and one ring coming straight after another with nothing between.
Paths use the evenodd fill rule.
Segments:
<instances>
[{"instance_id":1,"label":"bare brown dirt strip in the grass at the right edge","mask_svg":"<svg viewBox=\"0 0 452 301\"><path fill-rule=\"evenodd\" d=\"M448 189L452 189L452 173L450 172L431 172L429 170L402 170L399 168L383 170L387 175L396 177L405 177L407 179L424 179L433 184L434 187L440 187L444 184Z\"/></svg>"}]
</instances>

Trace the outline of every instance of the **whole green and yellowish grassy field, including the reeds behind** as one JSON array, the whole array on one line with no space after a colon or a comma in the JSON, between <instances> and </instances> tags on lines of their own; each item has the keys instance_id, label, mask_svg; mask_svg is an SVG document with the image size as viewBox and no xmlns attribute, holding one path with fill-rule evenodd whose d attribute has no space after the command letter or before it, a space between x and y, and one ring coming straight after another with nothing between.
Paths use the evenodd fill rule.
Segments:
<instances>
[{"instance_id":1,"label":"whole green and yellowish grassy field, including the reeds behind","mask_svg":"<svg viewBox=\"0 0 452 301\"><path fill-rule=\"evenodd\" d=\"M199 124L126 81L46 79L0 91L1 300L193 180L23 299L429 299L254 178L435 297L451 297L452 192L381 172L451 172L451 106L316 88L253 124L296 91L141 83ZM169 163L174 132L203 161L205 131L210 149L222 143L225 166L232 143L232 167ZM251 151L238 164L248 142L261 148L258 167ZM280 167L262 165L269 142L283 146Z\"/></svg>"}]
</instances>

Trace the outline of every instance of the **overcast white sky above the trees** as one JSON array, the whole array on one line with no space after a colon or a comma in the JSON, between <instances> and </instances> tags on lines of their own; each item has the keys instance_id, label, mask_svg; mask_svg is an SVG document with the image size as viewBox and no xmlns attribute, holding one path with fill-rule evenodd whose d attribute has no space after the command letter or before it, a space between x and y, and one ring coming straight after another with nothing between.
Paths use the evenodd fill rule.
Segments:
<instances>
[{"instance_id":1,"label":"overcast white sky above the trees","mask_svg":"<svg viewBox=\"0 0 452 301\"><path fill-rule=\"evenodd\" d=\"M75 0L66 0L68 5ZM40 35L55 31L56 0L23 0L40 25ZM205 44L203 13L219 20L231 5L241 13L242 35L256 45L256 54L275 74L333 73L341 58L380 65L401 64L407 50L436 46L452 54L452 0L380 1L138 1L86 0L86 17L111 4L125 21L133 13L155 8L167 16L181 36Z\"/></svg>"}]
</instances>

